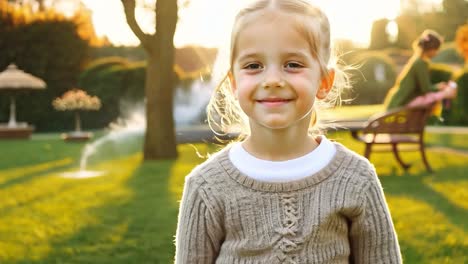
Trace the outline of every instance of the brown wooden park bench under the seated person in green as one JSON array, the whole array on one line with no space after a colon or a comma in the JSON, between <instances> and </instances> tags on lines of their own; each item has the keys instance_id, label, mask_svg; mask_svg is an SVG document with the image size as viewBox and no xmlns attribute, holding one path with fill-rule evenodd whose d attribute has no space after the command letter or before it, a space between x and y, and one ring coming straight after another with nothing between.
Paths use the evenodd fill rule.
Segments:
<instances>
[{"instance_id":1,"label":"brown wooden park bench under the seated person in green","mask_svg":"<svg viewBox=\"0 0 468 264\"><path fill-rule=\"evenodd\" d=\"M399 144L412 144L421 153L427 171L432 172L427 161L424 144L424 129L431 115L433 105L426 107L403 107L371 116L366 122L342 122L341 125L351 131L353 138L365 143L364 156L369 159L374 145L389 145L395 159L406 171L411 166L403 162ZM376 150L377 151L377 150ZM382 151L382 150L381 150ZM384 149L383 151L389 151Z\"/></svg>"}]
</instances>

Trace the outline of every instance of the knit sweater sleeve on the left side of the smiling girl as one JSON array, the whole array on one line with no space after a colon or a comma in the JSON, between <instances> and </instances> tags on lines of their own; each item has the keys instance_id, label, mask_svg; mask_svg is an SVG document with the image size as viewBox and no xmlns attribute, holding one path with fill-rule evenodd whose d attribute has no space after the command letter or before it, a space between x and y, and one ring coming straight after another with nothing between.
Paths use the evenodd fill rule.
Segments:
<instances>
[{"instance_id":1,"label":"knit sweater sleeve on the left side of the smiling girl","mask_svg":"<svg viewBox=\"0 0 468 264\"><path fill-rule=\"evenodd\" d=\"M194 175L196 176L196 175ZM223 232L200 178L188 176L179 208L176 264L215 263Z\"/></svg>"}]
</instances>

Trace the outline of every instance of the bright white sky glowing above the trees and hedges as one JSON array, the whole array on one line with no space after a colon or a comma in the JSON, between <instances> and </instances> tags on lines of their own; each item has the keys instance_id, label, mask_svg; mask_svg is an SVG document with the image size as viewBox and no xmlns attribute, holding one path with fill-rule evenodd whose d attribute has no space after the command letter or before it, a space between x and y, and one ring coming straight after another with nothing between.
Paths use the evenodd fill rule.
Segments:
<instances>
[{"instance_id":1,"label":"bright white sky glowing above the trees and hedges","mask_svg":"<svg viewBox=\"0 0 468 264\"><path fill-rule=\"evenodd\" d=\"M145 0L147 3L154 0ZM351 39L367 45L372 22L379 18L395 18L400 11L400 0L311 0L329 15L333 37ZM100 36L107 36L116 45L137 45L138 39L128 27L123 7L116 0L82 0L93 11L93 22ZM179 11L179 23L174 38L176 46L198 44L209 47L222 45L229 35L230 23L238 8L249 0L191 0ZM428 6L440 0L425 0ZM149 5L149 6L152 6ZM137 19L143 30L154 31L150 12L137 9Z\"/></svg>"}]
</instances>

